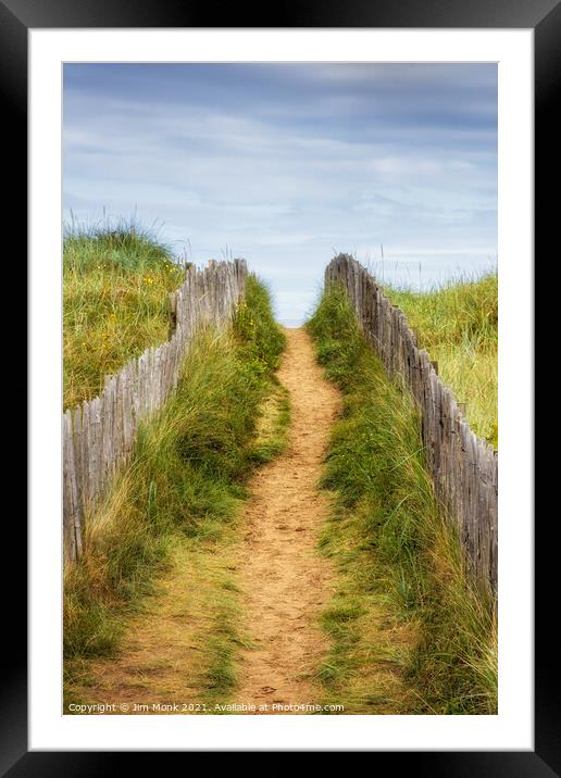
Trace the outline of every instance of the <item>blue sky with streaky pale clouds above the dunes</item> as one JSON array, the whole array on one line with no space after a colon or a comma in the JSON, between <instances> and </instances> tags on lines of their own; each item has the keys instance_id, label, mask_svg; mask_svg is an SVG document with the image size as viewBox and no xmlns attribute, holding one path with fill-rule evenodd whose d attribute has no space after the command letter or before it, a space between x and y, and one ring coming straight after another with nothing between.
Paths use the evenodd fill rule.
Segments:
<instances>
[{"instance_id":1,"label":"blue sky with streaky pale clouds above the dunes","mask_svg":"<svg viewBox=\"0 0 561 778\"><path fill-rule=\"evenodd\" d=\"M66 64L63 159L66 218L244 256L287 325L334 252L413 287L496 262L494 64Z\"/></svg>"}]
</instances>

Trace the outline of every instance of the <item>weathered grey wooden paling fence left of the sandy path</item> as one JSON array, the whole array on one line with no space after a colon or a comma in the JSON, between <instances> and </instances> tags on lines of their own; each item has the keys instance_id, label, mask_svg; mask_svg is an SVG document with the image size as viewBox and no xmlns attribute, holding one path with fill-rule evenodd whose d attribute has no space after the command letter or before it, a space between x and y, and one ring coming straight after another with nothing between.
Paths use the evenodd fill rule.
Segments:
<instances>
[{"instance_id":1,"label":"weathered grey wooden paling fence left of the sandy path","mask_svg":"<svg viewBox=\"0 0 561 778\"><path fill-rule=\"evenodd\" d=\"M101 394L63 416L63 544L65 560L82 553L86 509L102 497L126 461L138 424L159 409L177 385L182 357L201 326L224 327L245 293L244 260L191 266L172 296L175 328L170 340L147 349Z\"/></svg>"}]
</instances>

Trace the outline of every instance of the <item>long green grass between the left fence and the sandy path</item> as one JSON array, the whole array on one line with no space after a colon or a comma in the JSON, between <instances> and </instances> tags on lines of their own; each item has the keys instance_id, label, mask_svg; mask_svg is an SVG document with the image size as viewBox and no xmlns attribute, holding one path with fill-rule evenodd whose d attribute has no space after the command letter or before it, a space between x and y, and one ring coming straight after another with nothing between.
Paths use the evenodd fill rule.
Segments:
<instances>
[{"instance_id":1,"label":"long green grass between the left fence and the sandy path","mask_svg":"<svg viewBox=\"0 0 561 778\"><path fill-rule=\"evenodd\" d=\"M250 276L233 331L201 336L177 390L139 429L129 466L88 518L84 555L66 572L67 695L85 660L119 648L124 625L145 607L166 567L202 569L200 549L212 557L236 518L248 476L280 450L288 406L274 372L283 348L269 293ZM224 570L192 576L198 597L212 604L202 608L205 617L213 613L215 622L205 649L207 688L226 693L239 640L233 586Z\"/></svg>"}]
</instances>

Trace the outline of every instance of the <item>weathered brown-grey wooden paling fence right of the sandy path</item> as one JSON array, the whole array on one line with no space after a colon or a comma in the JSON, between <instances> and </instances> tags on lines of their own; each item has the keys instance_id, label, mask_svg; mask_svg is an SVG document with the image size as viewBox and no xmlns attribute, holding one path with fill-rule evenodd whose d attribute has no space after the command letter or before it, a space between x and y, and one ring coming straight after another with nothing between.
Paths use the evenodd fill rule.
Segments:
<instances>
[{"instance_id":1,"label":"weathered brown-grey wooden paling fence right of the sandy path","mask_svg":"<svg viewBox=\"0 0 561 778\"><path fill-rule=\"evenodd\" d=\"M388 375L400 374L422 414L423 444L435 492L459 525L470 567L497 588L497 452L470 429L449 387L438 378L403 312L392 305L375 279L348 254L325 271L325 287L341 285L362 331Z\"/></svg>"}]
</instances>

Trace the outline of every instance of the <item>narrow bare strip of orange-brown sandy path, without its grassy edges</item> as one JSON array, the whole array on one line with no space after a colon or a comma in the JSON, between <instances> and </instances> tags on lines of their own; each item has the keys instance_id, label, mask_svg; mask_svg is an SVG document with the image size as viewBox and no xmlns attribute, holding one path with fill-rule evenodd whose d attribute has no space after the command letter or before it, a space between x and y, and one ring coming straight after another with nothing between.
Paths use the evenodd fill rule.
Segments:
<instances>
[{"instance_id":1,"label":"narrow bare strip of orange-brown sandy path, without its grassy edges","mask_svg":"<svg viewBox=\"0 0 561 778\"><path fill-rule=\"evenodd\" d=\"M247 633L257 648L244 652L235 701L269 708L275 702L320 702L313 674L328 647L317 615L331 598L334 575L316 551L329 510L317 481L339 393L315 363L306 330L285 331L278 377L290 392L289 441L251 484L237 563Z\"/></svg>"}]
</instances>

